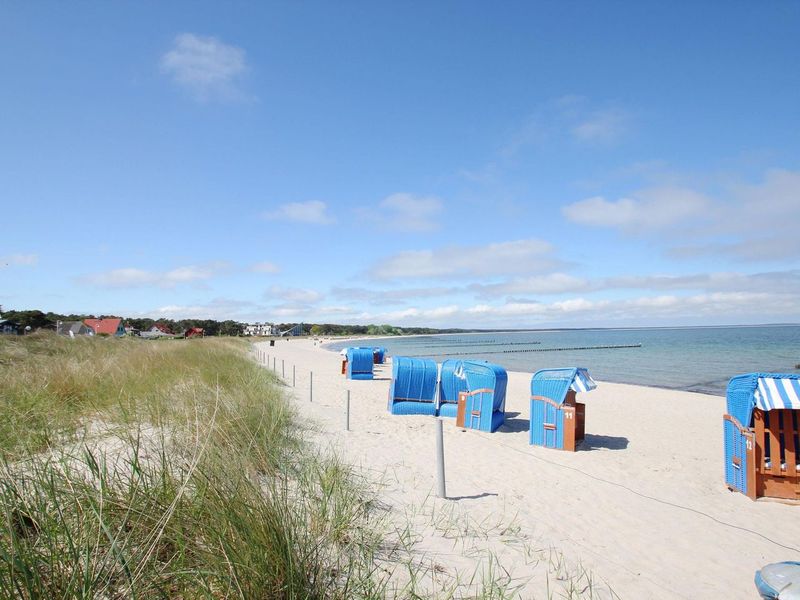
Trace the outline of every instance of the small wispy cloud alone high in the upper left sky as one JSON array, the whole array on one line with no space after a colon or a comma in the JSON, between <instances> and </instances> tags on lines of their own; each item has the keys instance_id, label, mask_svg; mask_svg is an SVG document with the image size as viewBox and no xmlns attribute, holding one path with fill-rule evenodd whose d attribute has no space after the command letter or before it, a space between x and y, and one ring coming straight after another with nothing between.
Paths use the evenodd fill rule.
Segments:
<instances>
[{"instance_id":1,"label":"small wispy cloud alone high in the upper left sky","mask_svg":"<svg viewBox=\"0 0 800 600\"><path fill-rule=\"evenodd\" d=\"M247 71L245 51L215 37L182 33L161 57L161 70L199 100L243 99L239 81Z\"/></svg>"}]
</instances>

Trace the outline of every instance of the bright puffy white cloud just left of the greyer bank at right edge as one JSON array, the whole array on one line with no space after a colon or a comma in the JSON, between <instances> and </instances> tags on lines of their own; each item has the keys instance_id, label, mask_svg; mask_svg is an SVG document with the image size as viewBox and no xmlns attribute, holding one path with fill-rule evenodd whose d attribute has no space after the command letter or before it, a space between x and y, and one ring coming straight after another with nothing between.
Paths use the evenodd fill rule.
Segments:
<instances>
[{"instance_id":1,"label":"bright puffy white cloud just left of the greyer bank at right edge","mask_svg":"<svg viewBox=\"0 0 800 600\"><path fill-rule=\"evenodd\" d=\"M587 198L562 208L567 219L581 225L616 227L626 231L669 228L709 212L711 201L684 188L641 190L634 198L608 201L602 196Z\"/></svg>"}]
</instances>

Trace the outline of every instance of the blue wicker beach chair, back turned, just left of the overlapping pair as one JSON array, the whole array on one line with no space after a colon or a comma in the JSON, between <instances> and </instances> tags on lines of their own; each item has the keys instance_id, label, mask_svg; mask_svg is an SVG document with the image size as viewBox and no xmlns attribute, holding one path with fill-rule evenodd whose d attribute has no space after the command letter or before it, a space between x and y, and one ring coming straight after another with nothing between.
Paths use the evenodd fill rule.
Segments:
<instances>
[{"instance_id":1,"label":"blue wicker beach chair, back turned, just left of the overlapping pair","mask_svg":"<svg viewBox=\"0 0 800 600\"><path fill-rule=\"evenodd\" d=\"M438 366L427 358L395 356L389 387L389 412L393 415L436 415Z\"/></svg>"}]
</instances>

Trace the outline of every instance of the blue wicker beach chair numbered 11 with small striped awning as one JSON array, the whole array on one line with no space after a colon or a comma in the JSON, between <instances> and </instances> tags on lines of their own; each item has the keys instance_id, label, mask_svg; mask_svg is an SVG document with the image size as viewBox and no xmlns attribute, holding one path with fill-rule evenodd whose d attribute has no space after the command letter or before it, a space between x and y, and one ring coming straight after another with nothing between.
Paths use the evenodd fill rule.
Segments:
<instances>
[{"instance_id":1,"label":"blue wicker beach chair numbered 11 with small striped awning","mask_svg":"<svg viewBox=\"0 0 800 600\"><path fill-rule=\"evenodd\" d=\"M575 452L585 435L586 405L576 392L597 384L586 369L542 369L531 378L530 444Z\"/></svg>"}]
</instances>

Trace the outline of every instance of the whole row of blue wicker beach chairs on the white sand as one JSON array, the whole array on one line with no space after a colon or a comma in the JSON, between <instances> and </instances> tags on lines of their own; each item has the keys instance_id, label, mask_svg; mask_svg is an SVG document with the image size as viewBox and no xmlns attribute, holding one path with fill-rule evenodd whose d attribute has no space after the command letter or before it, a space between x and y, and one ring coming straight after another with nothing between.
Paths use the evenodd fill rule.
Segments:
<instances>
[{"instance_id":1,"label":"whole row of blue wicker beach chairs on the white sand","mask_svg":"<svg viewBox=\"0 0 800 600\"><path fill-rule=\"evenodd\" d=\"M342 371L372 379L385 348L348 348ZM450 417L464 429L494 432L505 422L508 376L488 361L397 356L389 412ZM531 445L574 451L584 439L586 406L576 393L596 387L586 369L543 369L531 378ZM748 373L728 384L723 416L725 483L751 499L800 500L800 375Z\"/></svg>"}]
</instances>

